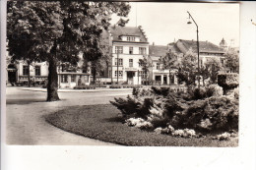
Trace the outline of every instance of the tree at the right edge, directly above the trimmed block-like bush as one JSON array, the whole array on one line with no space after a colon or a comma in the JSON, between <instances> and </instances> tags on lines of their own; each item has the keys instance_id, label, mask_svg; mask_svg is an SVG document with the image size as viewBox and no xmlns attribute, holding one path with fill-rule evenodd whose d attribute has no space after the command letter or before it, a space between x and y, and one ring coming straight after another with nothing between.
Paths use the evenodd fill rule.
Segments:
<instances>
[{"instance_id":1,"label":"tree at the right edge, directly above the trimmed block-like bush","mask_svg":"<svg viewBox=\"0 0 256 170\"><path fill-rule=\"evenodd\" d=\"M239 55L234 50L229 50L225 54L225 64L224 66L231 73L239 73Z\"/></svg>"}]
</instances>

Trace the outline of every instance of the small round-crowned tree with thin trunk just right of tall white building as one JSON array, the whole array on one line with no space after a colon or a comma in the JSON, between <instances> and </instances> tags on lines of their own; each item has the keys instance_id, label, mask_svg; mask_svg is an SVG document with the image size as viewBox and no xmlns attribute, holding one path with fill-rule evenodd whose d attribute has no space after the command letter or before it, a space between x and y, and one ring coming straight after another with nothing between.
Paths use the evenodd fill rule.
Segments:
<instances>
[{"instance_id":1,"label":"small round-crowned tree with thin trunk just right of tall white building","mask_svg":"<svg viewBox=\"0 0 256 170\"><path fill-rule=\"evenodd\" d=\"M179 69L180 63L178 59L178 55L174 52L167 52L166 55L162 58L160 58L160 64L162 65L162 70L168 70L169 71L169 85L171 85L171 71L177 72Z\"/></svg>"}]
</instances>

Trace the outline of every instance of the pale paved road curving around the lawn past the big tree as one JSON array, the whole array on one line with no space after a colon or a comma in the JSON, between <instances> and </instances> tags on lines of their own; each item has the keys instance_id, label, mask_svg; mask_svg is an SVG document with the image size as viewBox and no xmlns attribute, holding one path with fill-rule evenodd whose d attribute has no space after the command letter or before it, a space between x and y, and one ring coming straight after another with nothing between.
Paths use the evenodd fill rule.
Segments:
<instances>
[{"instance_id":1,"label":"pale paved road curving around the lawn past the big tree","mask_svg":"<svg viewBox=\"0 0 256 170\"><path fill-rule=\"evenodd\" d=\"M132 92L59 92L60 101L45 102L46 92L24 90L21 87L6 89L6 142L8 144L49 145L114 145L64 132L45 122L43 116L74 105L105 104L115 96Z\"/></svg>"}]
</instances>

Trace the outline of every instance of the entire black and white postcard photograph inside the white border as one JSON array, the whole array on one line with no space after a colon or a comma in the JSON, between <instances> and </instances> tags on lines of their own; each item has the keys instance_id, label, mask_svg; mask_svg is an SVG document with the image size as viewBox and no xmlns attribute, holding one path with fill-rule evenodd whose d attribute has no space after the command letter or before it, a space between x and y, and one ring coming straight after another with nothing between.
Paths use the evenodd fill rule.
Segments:
<instances>
[{"instance_id":1,"label":"entire black and white postcard photograph inside the white border","mask_svg":"<svg viewBox=\"0 0 256 170\"><path fill-rule=\"evenodd\" d=\"M6 142L238 145L239 4L7 2Z\"/></svg>"}]
</instances>

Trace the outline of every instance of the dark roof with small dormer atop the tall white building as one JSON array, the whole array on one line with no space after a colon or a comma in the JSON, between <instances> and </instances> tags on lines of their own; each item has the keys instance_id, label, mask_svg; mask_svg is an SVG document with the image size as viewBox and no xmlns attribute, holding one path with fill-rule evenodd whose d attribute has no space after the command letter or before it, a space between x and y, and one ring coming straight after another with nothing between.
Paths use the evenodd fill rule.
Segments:
<instances>
[{"instance_id":1,"label":"dark roof with small dormer atop the tall white building","mask_svg":"<svg viewBox=\"0 0 256 170\"><path fill-rule=\"evenodd\" d=\"M130 35L130 36L139 36L140 42L148 42L147 37L142 32L141 28L137 27L119 27L119 26L111 26L109 30L113 36L114 41L121 40L120 35Z\"/></svg>"}]
</instances>

